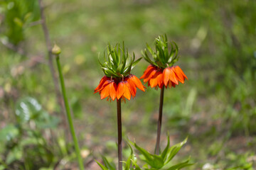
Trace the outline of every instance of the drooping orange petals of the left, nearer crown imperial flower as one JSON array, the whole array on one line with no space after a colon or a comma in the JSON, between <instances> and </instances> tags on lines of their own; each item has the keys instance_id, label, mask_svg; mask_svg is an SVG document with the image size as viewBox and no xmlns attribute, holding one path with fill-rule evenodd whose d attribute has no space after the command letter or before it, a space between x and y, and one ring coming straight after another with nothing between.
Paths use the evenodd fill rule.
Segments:
<instances>
[{"instance_id":1,"label":"drooping orange petals of the left, nearer crown imperial flower","mask_svg":"<svg viewBox=\"0 0 256 170\"><path fill-rule=\"evenodd\" d=\"M112 79L110 77L102 77L100 84L96 87L95 93L99 92L100 98L109 98L114 101L115 98L118 100L122 98L122 101L125 101L125 98L128 100L136 96L137 88L145 91L145 86L142 85L142 82L134 76L129 74L128 77L124 77L122 81L118 79Z\"/></svg>"}]
</instances>

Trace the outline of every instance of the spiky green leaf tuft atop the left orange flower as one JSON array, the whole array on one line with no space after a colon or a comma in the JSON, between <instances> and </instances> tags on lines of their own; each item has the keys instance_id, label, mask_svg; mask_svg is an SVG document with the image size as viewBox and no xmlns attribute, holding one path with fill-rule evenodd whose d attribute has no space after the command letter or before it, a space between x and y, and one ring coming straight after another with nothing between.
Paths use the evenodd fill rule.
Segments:
<instances>
[{"instance_id":1,"label":"spiky green leaf tuft atop the left orange flower","mask_svg":"<svg viewBox=\"0 0 256 170\"><path fill-rule=\"evenodd\" d=\"M107 77L127 77L131 70L135 67L135 65L142 60L139 58L135 60L135 55L133 53L133 57L131 57L128 53L128 50L124 49L124 43L122 48L119 44L113 47L112 45L108 45L107 47L107 60L104 53L105 62L100 65L102 66L102 70Z\"/></svg>"}]
</instances>

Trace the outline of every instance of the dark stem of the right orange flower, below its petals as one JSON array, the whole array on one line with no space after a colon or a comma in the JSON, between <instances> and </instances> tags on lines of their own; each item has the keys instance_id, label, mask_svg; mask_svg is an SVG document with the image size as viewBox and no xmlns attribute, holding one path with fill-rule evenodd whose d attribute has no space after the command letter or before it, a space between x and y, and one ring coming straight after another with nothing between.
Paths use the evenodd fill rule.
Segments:
<instances>
[{"instance_id":1,"label":"dark stem of the right orange flower, below its petals","mask_svg":"<svg viewBox=\"0 0 256 170\"><path fill-rule=\"evenodd\" d=\"M157 121L157 137L156 137L156 149L155 154L160 152L160 137L161 137L161 120L163 115L163 103L164 103L164 86L161 89L160 103L159 103L159 120Z\"/></svg>"}]
</instances>

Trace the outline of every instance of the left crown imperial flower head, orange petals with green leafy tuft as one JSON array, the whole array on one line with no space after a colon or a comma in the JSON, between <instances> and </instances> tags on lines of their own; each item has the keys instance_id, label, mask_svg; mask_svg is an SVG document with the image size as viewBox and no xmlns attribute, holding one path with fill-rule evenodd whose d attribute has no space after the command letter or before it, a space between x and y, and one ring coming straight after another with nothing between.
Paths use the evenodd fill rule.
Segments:
<instances>
[{"instance_id":1,"label":"left crown imperial flower head, orange petals with green leafy tuft","mask_svg":"<svg viewBox=\"0 0 256 170\"><path fill-rule=\"evenodd\" d=\"M114 101L115 98L117 100L121 98L125 101L125 98L130 100L131 96L132 98L136 96L137 88L145 91L146 87L142 85L142 82L130 73L141 59L135 60L134 54L130 57L127 50L124 50L124 45L122 48L119 44L115 47L109 45L105 62L101 63L99 60L105 76L100 80L95 93L99 92L101 99L111 98Z\"/></svg>"}]
</instances>

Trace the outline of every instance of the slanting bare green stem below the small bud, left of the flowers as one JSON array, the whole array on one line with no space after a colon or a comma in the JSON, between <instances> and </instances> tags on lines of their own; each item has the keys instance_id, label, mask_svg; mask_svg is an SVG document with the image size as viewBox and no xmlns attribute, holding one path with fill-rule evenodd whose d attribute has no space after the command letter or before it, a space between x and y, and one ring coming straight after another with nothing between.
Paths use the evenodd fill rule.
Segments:
<instances>
[{"instance_id":1,"label":"slanting bare green stem below the small bud, left of the flowers","mask_svg":"<svg viewBox=\"0 0 256 170\"><path fill-rule=\"evenodd\" d=\"M58 73L59 73L59 76L60 76L60 85L61 85L61 90L63 92L65 110L66 110L67 117L68 117L68 124L69 124L71 135L73 137L73 142L74 142L74 145L75 145L75 152L76 152L76 155L77 155L77 158L78 158L78 164L79 164L80 170L83 170L84 167L83 167L83 164L82 164L82 157L81 157L81 154L80 154L78 139L75 135L73 120L72 120L72 117L71 117L71 114L70 114L70 108L69 108L69 105L68 105L68 98L67 98L66 92L65 92L65 84L64 84L64 79L63 79L63 74L62 74L62 71L61 71L61 67L60 67L60 57L59 57L59 55L56 55L56 62L57 62L57 66L58 66Z\"/></svg>"}]
</instances>

